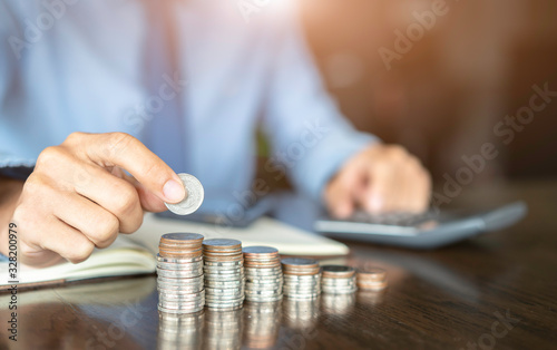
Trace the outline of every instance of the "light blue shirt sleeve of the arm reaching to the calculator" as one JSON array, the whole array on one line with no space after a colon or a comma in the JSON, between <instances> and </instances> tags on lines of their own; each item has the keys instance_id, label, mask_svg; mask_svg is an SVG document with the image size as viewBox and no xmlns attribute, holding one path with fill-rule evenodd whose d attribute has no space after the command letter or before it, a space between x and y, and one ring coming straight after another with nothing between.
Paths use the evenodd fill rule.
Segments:
<instances>
[{"instance_id":1,"label":"light blue shirt sleeve of the arm reaching to the calculator","mask_svg":"<svg viewBox=\"0 0 557 350\"><path fill-rule=\"evenodd\" d=\"M379 139L354 129L325 90L297 12L281 17L270 40L274 57L263 125L274 149L270 162L280 163L299 191L321 201L343 163Z\"/></svg>"}]
</instances>

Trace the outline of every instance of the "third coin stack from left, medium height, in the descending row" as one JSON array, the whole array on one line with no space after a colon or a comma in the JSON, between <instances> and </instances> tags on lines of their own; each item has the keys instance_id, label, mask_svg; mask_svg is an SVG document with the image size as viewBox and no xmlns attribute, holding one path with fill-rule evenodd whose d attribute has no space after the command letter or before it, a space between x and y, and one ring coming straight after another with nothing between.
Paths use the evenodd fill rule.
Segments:
<instances>
[{"instance_id":1,"label":"third coin stack from left, medium height, in the descending row","mask_svg":"<svg viewBox=\"0 0 557 350\"><path fill-rule=\"evenodd\" d=\"M271 246L244 247L245 299L271 302L282 299L282 269L278 251Z\"/></svg>"}]
</instances>

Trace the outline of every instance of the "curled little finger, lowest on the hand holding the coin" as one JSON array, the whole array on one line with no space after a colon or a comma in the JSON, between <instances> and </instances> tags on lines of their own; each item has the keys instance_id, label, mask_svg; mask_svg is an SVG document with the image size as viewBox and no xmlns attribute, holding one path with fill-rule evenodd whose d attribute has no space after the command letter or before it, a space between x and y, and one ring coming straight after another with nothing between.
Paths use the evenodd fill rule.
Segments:
<instances>
[{"instance_id":1,"label":"curled little finger, lowest on the hand holding the coin","mask_svg":"<svg viewBox=\"0 0 557 350\"><path fill-rule=\"evenodd\" d=\"M53 216L46 220L40 234L35 236L38 242L33 245L52 251L72 263L85 261L95 249L84 234Z\"/></svg>"}]
</instances>

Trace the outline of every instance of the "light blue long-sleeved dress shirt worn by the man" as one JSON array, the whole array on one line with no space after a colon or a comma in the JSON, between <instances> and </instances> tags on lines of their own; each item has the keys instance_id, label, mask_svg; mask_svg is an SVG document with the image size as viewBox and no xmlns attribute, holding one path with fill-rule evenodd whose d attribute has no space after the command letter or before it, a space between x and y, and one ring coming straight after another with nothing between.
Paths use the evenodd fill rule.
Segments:
<instances>
[{"instance_id":1,"label":"light blue long-sleeved dress shirt worn by the man","mask_svg":"<svg viewBox=\"0 0 557 350\"><path fill-rule=\"evenodd\" d=\"M163 40L148 1L0 0L0 168L32 167L74 132L125 132L206 188L242 192L261 127L273 147L265 171L320 200L375 140L324 89L293 1L254 1L247 13L233 0L166 0L176 67L147 75Z\"/></svg>"}]
</instances>

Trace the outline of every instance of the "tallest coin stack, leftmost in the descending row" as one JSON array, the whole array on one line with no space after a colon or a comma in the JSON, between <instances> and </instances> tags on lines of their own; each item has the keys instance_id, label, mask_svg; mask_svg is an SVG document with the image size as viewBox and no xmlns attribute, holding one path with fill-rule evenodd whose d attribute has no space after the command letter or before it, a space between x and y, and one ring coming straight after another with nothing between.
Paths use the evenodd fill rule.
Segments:
<instances>
[{"instance_id":1,"label":"tallest coin stack, leftmost in the descending row","mask_svg":"<svg viewBox=\"0 0 557 350\"><path fill-rule=\"evenodd\" d=\"M203 235L167 233L157 254L158 310L193 313L203 310Z\"/></svg>"}]
</instances>

